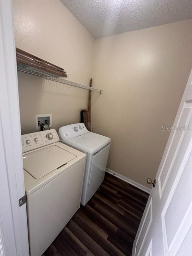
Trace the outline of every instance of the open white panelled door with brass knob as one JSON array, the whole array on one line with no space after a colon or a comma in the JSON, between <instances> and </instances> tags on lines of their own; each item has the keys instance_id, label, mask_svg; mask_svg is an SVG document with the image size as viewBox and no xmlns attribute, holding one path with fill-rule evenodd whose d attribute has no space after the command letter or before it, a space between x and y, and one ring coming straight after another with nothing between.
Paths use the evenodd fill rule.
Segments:
<instances>
[{"instance_id":1,"label":"open white panelled door with brass knob","mask_svg":"<svg viewBox=\"0 0 192 256\"><path fill-rule=\"evenodd\" d=\"M172 129L132 256L192 255L192 71Z\"/></svg>"}]
</instances>

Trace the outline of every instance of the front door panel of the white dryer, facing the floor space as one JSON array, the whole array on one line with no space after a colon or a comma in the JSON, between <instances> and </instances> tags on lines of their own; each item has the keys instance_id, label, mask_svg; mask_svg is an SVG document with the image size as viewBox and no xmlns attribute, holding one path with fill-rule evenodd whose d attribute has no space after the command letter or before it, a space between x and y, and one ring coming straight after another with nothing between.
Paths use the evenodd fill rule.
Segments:
<instances>
[{"instance_id":1,"label":"front door panel of the white dryer, facing the floor space","mask_svg":"<svg viewBox=\"0 0 192 256\"><path fill-rule=\"evenodd\" d=\"M97 191L102 181L104 180L109 148L110 144L102 148L92 158L89 186L91 186L93 194Z\"/></svg>"}]
</instances>

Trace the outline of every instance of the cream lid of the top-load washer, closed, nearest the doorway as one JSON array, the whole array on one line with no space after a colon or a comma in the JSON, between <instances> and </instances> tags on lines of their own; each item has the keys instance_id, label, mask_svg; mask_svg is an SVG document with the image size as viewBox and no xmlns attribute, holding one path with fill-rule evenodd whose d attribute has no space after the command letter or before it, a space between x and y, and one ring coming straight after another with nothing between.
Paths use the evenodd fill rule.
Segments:
<instances>
[{"instance_id":1,"label":"cream lid of the top-load washer, closed, nearest the doorway","mask_svg":"<svg viewBox=\"0 0 192 256\"><path fill-rule=\"evenodd\" d=\"M23 156L23 168L35 179L59 169L62 165L77 157L67 150L52 145L38 149Z\"/></svg>"}]
</instances>

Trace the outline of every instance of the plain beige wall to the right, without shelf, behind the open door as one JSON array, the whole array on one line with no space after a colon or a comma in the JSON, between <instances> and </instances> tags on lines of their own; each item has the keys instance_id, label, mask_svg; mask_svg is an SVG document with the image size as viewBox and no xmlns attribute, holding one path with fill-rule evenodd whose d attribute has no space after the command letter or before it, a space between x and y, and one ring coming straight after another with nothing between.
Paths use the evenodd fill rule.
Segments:
<instances>
[{"instance_id":1,"label":"plain beige wall to the right, without shelf, behind the open door","mask_svg":"<svg viewBox=\"0 0 192 256\"><path fill-rule=\"evenodd\" d=\"M108 168L154 179L192 68L192 20L95 40L94 132L112 139ZM148 185L151 187L151 185Z\"/></svg>"}]
</instances>

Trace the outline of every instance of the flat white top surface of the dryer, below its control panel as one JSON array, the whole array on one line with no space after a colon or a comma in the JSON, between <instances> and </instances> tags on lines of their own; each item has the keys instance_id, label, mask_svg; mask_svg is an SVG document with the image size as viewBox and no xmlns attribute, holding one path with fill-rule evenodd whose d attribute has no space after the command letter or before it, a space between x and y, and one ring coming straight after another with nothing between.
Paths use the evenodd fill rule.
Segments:
<instances>
[{"instance_id":1,"label":"flat white top surface of the dryer, below its control panel","mask_svg":"<svg viewBox=\"0 0 192 256\"><path fill-rule=\"evenodd\" d=\"M87 132L83 135L80 135L78 137L69 139L66 143L81 149L87 153L94 153L101 148L105 147L108 143L110 143L111 139L108 137L105 137L103 135L94 133L94 132Z\"/></svg>"}]
</instances>

